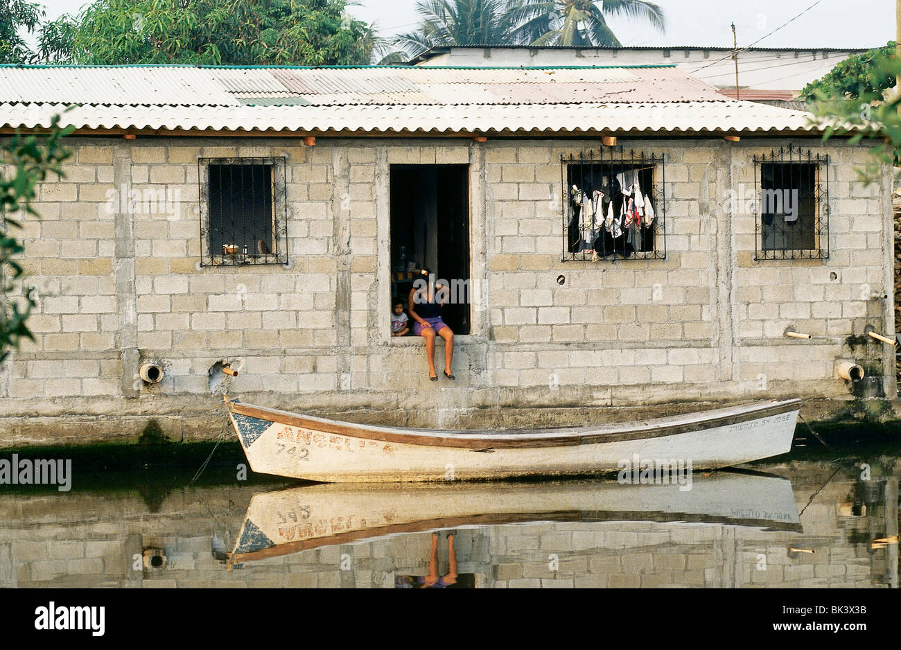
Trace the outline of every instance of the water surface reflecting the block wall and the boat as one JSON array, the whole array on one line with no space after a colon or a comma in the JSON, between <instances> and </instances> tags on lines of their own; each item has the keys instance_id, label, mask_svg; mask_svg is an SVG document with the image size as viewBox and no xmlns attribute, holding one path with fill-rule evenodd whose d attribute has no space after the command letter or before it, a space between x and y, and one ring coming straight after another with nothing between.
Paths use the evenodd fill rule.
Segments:
<instances>
[{"instance_id":1,"label":"water surface reflecting the block wall and the boat","mask_svg":"<svg viewBox=\"0 0 901 650\"><path fill-rule=\"evenodd\" d=\"M897 545L877 540L896 534L898 459L866 485L829 464L767 468L792 481L218 486L172 492L154 512L136 492L4 494L0 587L396 588L450 586L452 573L478 588L897 586ZM342 530L325 530L338 517ZM298 535L304 522L312 537ZM133 570L147 548L166 565Z\"/></svg>"}]
</instances>

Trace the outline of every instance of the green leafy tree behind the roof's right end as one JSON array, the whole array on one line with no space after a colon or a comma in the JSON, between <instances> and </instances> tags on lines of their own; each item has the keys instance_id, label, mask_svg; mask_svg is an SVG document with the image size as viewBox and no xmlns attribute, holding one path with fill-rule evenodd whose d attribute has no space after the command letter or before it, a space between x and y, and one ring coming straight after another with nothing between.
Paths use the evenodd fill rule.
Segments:
<instances>
[{"instance_id":1,"label":"green leafy tree behind the roof's right end","mask_svg":"<svg viewBox=\"0 0 901 650\"><path fill-rule=\"evenodd\" d=\"M854 54L840 61L822 79L807 84L799 99L804 101L826 98L860 98L865 95L881 95L895 86L895 79L888 75L878 62L895 57L895 41L888 41L884 48Z\"/></svg>"}]
</instances>

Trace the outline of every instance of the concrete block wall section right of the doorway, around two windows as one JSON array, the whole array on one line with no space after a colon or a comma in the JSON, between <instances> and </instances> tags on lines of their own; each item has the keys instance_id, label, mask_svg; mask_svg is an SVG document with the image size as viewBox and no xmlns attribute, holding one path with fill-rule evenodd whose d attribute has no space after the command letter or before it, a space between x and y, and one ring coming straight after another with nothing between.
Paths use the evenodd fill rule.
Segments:
<instances>
[{"instance_id":1,"label":"concrete block wall section right of the doorway, around two windows","mask_svg":"<svg viewBox=\"0 0 901 650\"><path fill-rule=\"evenodd\" d=\"M498 384L609 386L614 402L628 393L679 399L699 384L733 396L840 397L848 391L834 381L839 357L891 374L891 354L879 345L846 345L868 324L894 332L891 298L870 297L892 293L890 193L884 178L869 186L853 180L867 162L864 149L809 140L622 144L636 155L665 156L665 260L560 262L552 254L565 239L560 156L578 148L487 149ZM822 179L829 177L829 259L753 259L757 218L741 198L754 189L753 156L787 145L831 158ZM816 338L798 345L784 337L789 325Z\"/></svg>"}]
</instances>

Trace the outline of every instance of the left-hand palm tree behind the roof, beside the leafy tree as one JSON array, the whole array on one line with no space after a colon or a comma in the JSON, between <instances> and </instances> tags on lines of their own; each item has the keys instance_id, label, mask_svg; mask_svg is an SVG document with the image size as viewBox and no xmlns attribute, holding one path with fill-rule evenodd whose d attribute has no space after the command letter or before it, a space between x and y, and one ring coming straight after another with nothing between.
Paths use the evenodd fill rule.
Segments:
<instances>
[{"instance_id":1,"label":"left-hand palm tree behind the roof, beside the leafy tree","mask_svg":"<svg viewBox=\"0 0 901 650\"><path fill-rule=\"evenodd\" d=\"M416 32L399 34L400 49L383 62L414 59L424 51L449 45L509 45L514 24L506 0L421 0L423 23Z\"/></svg>"}]
</instances>

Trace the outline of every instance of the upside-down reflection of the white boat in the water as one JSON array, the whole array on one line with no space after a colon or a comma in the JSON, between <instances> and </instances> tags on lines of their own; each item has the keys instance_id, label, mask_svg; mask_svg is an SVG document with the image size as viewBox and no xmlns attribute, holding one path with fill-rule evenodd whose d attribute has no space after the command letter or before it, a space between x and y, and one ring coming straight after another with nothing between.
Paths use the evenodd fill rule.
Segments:
<instances>
[{"instance_id":1,"label":"upside-down reflection of the white boat in the water","mask_svg":"<svg viewBox=\"0 0 901 650\"><path fill-rule=\"evenodd\" d=\"M688 485L331 483L265 492L250 501L229 568L376 537L526 522L685 522L803 532L787 479L721 472L697 475Z\"/></svg>"}]
</instances>

